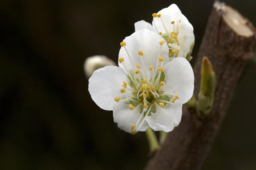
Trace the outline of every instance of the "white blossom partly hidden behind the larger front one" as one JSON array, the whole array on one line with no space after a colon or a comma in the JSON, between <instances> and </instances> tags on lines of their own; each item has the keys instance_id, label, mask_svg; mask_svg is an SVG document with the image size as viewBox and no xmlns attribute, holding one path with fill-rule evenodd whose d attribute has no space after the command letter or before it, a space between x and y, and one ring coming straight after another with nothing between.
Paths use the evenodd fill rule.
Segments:
<instances>
[{"instance_id":1,"label":"white blossom partly hidden behind the larger front one","mask_svg":"<svg viewBox=\"0 0 256 170\"><path fill-rule=\"evenodd\" d=\"M155 31L168 43L170 60L175 57L191 60L190 55L195 42L194 29L178 6L172 4L152 16L153 26L142 20L134 24L135 32L142 29Z\"/></svg>"}]
</instances>

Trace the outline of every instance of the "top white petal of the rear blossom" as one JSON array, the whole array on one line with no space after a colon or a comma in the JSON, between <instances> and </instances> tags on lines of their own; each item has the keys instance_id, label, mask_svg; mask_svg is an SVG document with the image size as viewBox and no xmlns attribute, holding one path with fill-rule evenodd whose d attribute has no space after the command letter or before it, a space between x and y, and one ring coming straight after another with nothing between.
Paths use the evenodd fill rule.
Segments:
<instances>
[{"instance_id":1,"label":"top white petal of the rear blossom","mask_svg":"<svg viewBox=\"0 0 256 170\"><path fill-rule=\"evenodd\" d=\"M154 18L154 20L157 31L162 32L162 35L169 35L170 32L173 32L173 25L171 24L172 21L174 21L177 26L180 24L179 21L181 17L181 11L176 4L172 4L168 8L162 9L161 11L157 12L157 14L161 14L161 17L156 17ZM164 29L161 18L168 32L166 32L166 30ZM152 25L155 27L154 21Z\"/></svg>"}]
</instances>

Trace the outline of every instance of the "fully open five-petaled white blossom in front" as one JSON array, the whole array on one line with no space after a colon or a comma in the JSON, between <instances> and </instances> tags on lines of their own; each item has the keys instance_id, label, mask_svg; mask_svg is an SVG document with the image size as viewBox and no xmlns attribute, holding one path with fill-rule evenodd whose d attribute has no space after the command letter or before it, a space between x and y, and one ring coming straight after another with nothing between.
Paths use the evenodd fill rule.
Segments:
<instances>
[{"instance_id":1,"label":"fully open five-petaled white blossom in front","mask_svg":"<svg viewBox=\"0 0 256 170\"><path fill-rule=\"evenodd\" d=\"M89 92L104 110L113 110L114 122L135 134L150 126L172 131L180 123L182 104L193 94L194 74L185 58L169 61L164 39L147 29L121 42L119 67L96 70Z\"/></svg>"}]
</instances>

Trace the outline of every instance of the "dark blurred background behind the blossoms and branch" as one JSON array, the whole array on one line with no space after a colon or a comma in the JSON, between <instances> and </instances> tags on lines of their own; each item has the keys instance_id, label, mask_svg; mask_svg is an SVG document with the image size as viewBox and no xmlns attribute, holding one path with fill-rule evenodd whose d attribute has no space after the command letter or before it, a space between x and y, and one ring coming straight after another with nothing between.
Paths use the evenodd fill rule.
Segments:
<instances>
[{"instance_id":1,"label":"dark blurred background behind the blossoms and branch","mask_svg":"<svg viewBox=\"0 0 256 170\"><path fill-rule=\"evenodd\" d=\"M145 134L121 131L92 101L84 60L117 62L134 23L175 3L194 27L193 65L213 2L1 0L0 169L143 169ZM256 23L256 1L226 3ZM256 169L255 79L252 60L203 170Z\"/></svg>"}]
</instances>

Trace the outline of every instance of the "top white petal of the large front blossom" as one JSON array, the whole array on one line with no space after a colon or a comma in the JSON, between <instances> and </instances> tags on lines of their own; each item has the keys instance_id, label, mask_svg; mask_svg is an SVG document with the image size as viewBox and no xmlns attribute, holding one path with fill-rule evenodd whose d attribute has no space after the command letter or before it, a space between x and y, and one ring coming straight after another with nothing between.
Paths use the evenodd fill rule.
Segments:
<instances>
[{"instance_id":1,"label":"top white petal of the large front blossom","mask_svg":"<svg viewBox=\"0 0 256 170\"><path fill-rule=\"evenodd\" d=\"M145 78L145 74L140 55L138 54L139 51L142 51L144 54L142 58L145 64L145 70L147 72L148 79L152 76L152 71L149 70L149 67L154 66L154 68L156 68L156 62L158 60L158 57L162 57L164 59L163 65L165 65L169 61L169 48L167 46L167 43L164 43L161 48L161 45L159 44L161 40L164 39L160 35L156 34L155 32L149 31L148 29L134 32L131 36L124 39L124 42L126 43L125 47L130 54L131 60L133 62L133 67L136 68L136 64L139 64L141 67L141 78ZM161 53L159 55L160 49ZM131 70L132 64L124 47L121 47L119 51L119 58L121 57L124 58L124 64L127 69ZM158 67L160 67L160 64L158 64ZM126 72L122 63L118 63L118 65Z\"/></svg>"}]
</instances>

